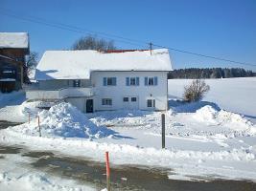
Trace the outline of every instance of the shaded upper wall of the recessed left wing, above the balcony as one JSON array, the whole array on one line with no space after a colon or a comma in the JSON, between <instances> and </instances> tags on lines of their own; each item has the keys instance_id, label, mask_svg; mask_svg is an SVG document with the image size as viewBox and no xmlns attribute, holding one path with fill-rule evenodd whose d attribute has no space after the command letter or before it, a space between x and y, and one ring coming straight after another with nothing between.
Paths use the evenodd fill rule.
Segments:
<instances>
[{"instance_id":1,"label":"shaded upper wall of the recessed left wing, above the balcony","mask_svg":"<svg viewBox=\"0 0 256 191\"><path fill-rule=\"evenodd\" d=\"M61 88L73 87L73 79L51 79L38 82L40 90L59 90ZM91 86L89 79L81 79L81 87Z\"/></svg>"}]
</instances>

